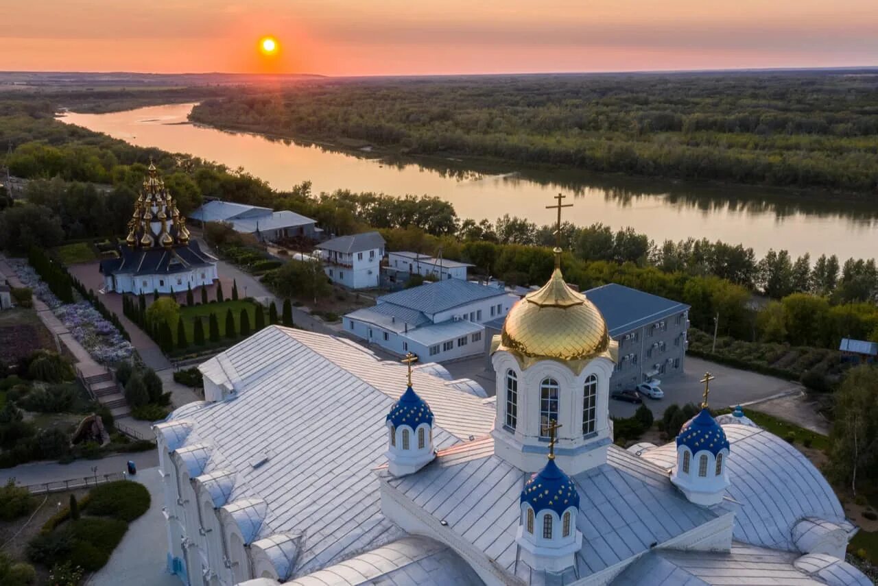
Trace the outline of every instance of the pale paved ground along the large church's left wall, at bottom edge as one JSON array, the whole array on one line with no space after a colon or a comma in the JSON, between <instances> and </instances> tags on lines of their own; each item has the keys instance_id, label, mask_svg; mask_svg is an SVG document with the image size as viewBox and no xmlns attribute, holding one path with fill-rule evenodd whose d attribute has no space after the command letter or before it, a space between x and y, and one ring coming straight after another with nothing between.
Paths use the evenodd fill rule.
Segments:
<instances>
[{"instance_id":1,"label":"pale paved ground along the large church's left wall, at bottom edge","mask_svg":"<svg viewBox=\"0 0 878 586\"><path fill-rule=\"evenodd\" d=\"M104 568L97 570L89 586L180 586L180 579L167 570L168 533L162 515L164 495L158 468L142 469L134 478L149 490L149 510L133 520Z\"/></svg>"}]
</instances>

